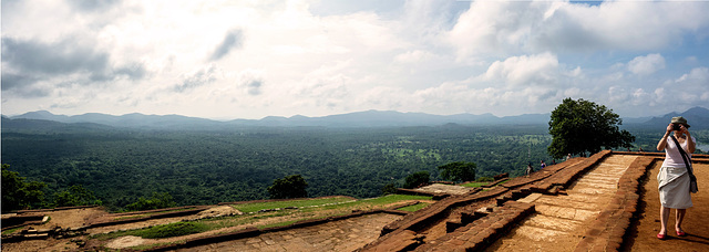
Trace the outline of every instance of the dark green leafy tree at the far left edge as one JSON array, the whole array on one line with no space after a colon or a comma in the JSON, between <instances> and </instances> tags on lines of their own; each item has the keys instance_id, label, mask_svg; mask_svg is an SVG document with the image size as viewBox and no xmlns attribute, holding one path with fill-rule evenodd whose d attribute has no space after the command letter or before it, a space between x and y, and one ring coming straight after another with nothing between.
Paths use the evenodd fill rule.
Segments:
<instances>
[{"instance_id":1,"label":"dark green leafy tree at the far left edge","mask_svg":"<svg viewBox=\"0 0 709 252\"><path fill-rule=\"evenodd\" d=\"M2 164L2 212L28 209L44 200L42 189L47 183L24 181L20 172L8 170L10 165Z\"/></svg>"}]
</instances>

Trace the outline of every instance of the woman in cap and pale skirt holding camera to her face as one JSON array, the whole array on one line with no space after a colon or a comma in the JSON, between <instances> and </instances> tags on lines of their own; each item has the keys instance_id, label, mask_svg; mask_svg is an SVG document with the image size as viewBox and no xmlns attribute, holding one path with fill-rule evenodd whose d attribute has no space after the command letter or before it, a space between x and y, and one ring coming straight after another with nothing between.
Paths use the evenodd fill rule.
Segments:
<instances>
[{"instance_id":1,"label":"woman in cap and pale skirt holding camera to her face","mask_svg":"<svg viewBox=\"0 0 709 252\"><path fill-rule=\"evenodd\" d=\"M675 232L678 237L687 235L681 224L687 209L692 206L689 195L689 174L675 140L670 137L670 134L675 132L675 138L691 158L691 154L695 153L696 148L695 143L697 141L687 128L689 128L687 119L681 116L672 117L670 124L667 125L665 136L657 144L658 151L665 150L665 161L660 172L657 175L660 203L662 204L660 206L661 227L660 232L657 234L660 240L664 240L667 235L667 220L669 219L670 208L674 208L676 212Z\"/></svg>"}]
</instances>

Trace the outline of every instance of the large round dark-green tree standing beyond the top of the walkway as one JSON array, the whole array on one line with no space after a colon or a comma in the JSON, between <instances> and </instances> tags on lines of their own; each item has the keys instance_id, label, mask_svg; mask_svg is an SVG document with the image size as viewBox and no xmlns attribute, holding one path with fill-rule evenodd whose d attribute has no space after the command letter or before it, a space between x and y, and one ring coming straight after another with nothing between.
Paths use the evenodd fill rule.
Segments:
<instances>
[{"instance_id":1,"label":"large round dark-green tree standing beyond the top of the walkway","mask_svg":"<svg viewBox=\"0 0 709 252\"><path fill-rule=\"evenodd\" d=\"M552 112L549 134L552 144L547 147L554 158L567 154L595 154L602 148L631 147L635 136L619 130L623 119L604 105L579 98L565 98Z\"/></svg>"}]
</instances>

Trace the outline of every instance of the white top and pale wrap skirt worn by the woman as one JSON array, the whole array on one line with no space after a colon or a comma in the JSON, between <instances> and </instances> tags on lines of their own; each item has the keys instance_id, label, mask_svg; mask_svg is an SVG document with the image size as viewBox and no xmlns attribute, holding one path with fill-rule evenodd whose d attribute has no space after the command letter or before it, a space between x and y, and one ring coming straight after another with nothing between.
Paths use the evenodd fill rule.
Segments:
<instances>
[{"instance_id":1,"label":"white top and pale wrap skirt worn by the woman","mask_svg":"<svg viewBox=\"0 0 709 252\"><path fill-rule=\"evenodd\" d=\"M692 137L692 141L695 138ZM696 143L696 141L695 141ZM687 141L682 144L687 149ZM687 154L691 158L691 154ZM689 172L682 160L682 156L677 149L677 145L671 138L667 138L665 147L665 161L657 175L658 189L660 192L660 203L666 208L688 209L692 207L689 193Z\"/></svg>"}]
</instances>

